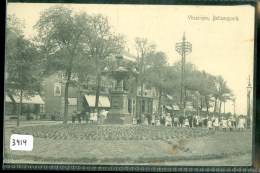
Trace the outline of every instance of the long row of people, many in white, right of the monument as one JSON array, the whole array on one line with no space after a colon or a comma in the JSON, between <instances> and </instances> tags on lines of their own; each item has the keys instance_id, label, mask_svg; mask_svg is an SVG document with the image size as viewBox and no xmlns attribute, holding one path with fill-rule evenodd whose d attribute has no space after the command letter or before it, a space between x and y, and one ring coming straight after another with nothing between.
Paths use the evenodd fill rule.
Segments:
<instances>
[{"instance_id":1,"label":"long row of people, many in white, right of the monument","mask_svg":"<svg viewBox=\"0 0 260 173\"><path fill-rule=\"evenodd\" d=\"M246 127L246 118L241 116L201 116L201 115L185 115L177 116L170 113L163 113L161 116L153 113L151 116L142 115L139 118L139 124L146 124L152 126L175 126L175 127L196 127L196 128L208 128L223 131L229 129L232 131L237 128L239 131Z\"/></svg>"}]
</instances>

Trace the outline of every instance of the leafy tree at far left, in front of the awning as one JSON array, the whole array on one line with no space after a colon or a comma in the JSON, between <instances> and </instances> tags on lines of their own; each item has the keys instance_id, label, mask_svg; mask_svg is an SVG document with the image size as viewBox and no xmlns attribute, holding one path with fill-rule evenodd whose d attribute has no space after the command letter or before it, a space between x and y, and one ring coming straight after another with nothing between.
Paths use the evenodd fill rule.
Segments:
<instances>
[{"instance_id":1,"label":"leafy tree at far left, in front of the awning","mask_svg":"<svg viewBox=\"0 0 260 173\"><path fill-rule=\"evenodd\" d=\"M36 46L24 38L22 24L15 16L7 17L6 91L20 98L17 126L20 123L23 98L40 92L42 82L42 56Z\"/></svg>"}]
</instances>

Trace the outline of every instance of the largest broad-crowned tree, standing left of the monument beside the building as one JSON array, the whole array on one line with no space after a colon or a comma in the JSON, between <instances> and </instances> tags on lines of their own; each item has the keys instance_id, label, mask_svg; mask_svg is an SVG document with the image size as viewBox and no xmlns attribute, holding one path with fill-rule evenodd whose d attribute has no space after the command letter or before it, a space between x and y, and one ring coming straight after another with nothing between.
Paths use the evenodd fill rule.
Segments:
<instances>
[{"instance_id":1,"label":"largest broad-crowned tree, standing left of the monument beside the building","mask_svg":"<svg viewBox=\"0 0 260 173\"><path fill-rule=\"evenodd\" d=\"M82 55L85 43L84 35L89 32L89 16L86 13L74 14L71 9L54 6L41 13L40 19L34 26L38 31L37 41L47 59L47 71L54 73L65 72L64 119L68 116L68 90L72 83L71 77L79 69L81 63L88 62L76 59Z\"/></svg>"}]
</instances>

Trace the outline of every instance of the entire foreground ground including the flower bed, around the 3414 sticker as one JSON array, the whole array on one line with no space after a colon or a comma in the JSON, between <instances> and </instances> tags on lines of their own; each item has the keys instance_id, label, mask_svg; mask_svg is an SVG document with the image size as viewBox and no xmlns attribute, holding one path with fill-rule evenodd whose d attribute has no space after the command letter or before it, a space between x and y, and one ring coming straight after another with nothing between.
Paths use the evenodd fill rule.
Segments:
<instances>
[{"instance_id":1,"label":"entire foreground ground including the flower bed, around the 3414 sticker","mask_svg":"<svg viewBox=\"0 0 260 173\"><path fill-rule=\"evenodd\" d=\"M11 151L11 133L33 135L33 151ZM249 130L214 132L148 126L34 126L14 128L6 133L4 158L6 163L152 165L171 165L180 161L215 165L223 164L216 160L229 158L225 164L236 166L251 163L251 138Z\"/></svg>"}]
</instances>

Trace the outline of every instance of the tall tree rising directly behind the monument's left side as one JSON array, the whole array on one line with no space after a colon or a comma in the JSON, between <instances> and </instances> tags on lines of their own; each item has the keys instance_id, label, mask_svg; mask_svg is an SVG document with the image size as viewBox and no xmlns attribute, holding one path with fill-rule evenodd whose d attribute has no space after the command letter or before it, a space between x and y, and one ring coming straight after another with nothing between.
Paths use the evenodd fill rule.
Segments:
<instances>
[{"instance_id":1,"label":"tall tree rising directly behind the monument's left side","mask_svg":"<svg viewBox=\"0 0 260 173\"><path fill-rule=\"evenodd\" d=\"M95 108L98 110L98 100L101 86L101 73L104 69L102 64L124 49L124 37L111 32L108 19L101 14L90 16L88 21L89 31L84 34L85 52L94 60L96 68L96 101Z\"/></svg>"}]
</instances>

